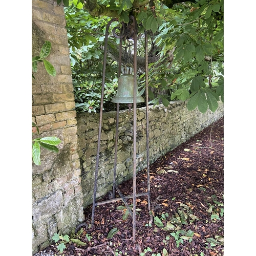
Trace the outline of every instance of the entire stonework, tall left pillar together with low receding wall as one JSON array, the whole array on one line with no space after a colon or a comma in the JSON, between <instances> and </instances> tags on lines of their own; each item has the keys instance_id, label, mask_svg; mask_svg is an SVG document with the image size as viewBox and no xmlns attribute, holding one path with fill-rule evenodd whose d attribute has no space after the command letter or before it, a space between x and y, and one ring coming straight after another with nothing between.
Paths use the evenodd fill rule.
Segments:
<instances>
[{"instance_id":1,"label":"entire stonework, tall left pillar together with low receding wall","mask_svg":"<svg viewBox=\"0 0 256 256\"><path fill-rule=\"evenodd\" d=\"M32 254L53 241L54 233L69 234L84 220L92 203L99 114L76 116L69 46L63 6L55 0L32 0L32 57L46 40L47 57L57 75L42 63L32 79L32 121L40 137L60 138L59 153L41 149L41 165L32 162ZM186 102L150 107L150 162L172 150L223 116L223 104L212 113L187 111ZM116 112L103 113L97 198L112 189ZM133 173L133 113L119 114L117 183ZM146 166L145 108L137 109L137 170ZM32 136L37 138L38 135Z\"/></svg>"}]
</instances>

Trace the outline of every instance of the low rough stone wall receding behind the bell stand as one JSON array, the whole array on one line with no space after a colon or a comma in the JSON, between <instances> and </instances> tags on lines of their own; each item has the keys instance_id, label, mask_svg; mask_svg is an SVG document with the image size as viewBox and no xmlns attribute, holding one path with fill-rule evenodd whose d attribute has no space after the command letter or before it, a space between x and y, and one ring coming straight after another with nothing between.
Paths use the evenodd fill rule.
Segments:
<instances>
[{"instance_id":1,"label":"low rough stone wall receding behind the bell stand","mask_svg":"<svg viewBox=\"0 0 256 256\"><path fill-rule=\"evenodd\" d=\"M150 163L202 131L223 116L223 103L215 113L188 111L186 102L170 102L168 107L150 106L149 141ZM93 200L94 173L97 154L99 114L77 115L78 154L81 162L83 206ZM133 112L120 111L118 123L117 184L133 176ZM115 153L116 112L103 113L96 197L112 189ZM146 110L137 109L137 171L146 167ZM132 192L132 191L131 191Z\"/></svg>"}]
</instances>

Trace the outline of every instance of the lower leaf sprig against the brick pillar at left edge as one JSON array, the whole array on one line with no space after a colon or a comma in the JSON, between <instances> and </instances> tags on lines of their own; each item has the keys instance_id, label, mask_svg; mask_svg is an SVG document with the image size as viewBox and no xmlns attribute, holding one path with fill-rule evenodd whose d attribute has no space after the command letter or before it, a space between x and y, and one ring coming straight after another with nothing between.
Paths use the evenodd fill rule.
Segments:
<instances>
[{"instance_id":1,"label":"lower leaf sprig against the brick pillar at left edge","mask_svg":"<svg viewBox=\"0 0 256 256\"><path fill-rule=\"evenodd\" d=\"M32 127L36 127L37 133L39 135L38 127L34 122L32 122ZM32 133L33 135L34 133ZM59 150L56 147L61 142L61 140L57 137L44 137L44 138L36 138L32 139L32 159L36 165L41 164L40 159L40 146L46 148L49 151L54 153L58 153Z\"/></svg>"}]
</instances>

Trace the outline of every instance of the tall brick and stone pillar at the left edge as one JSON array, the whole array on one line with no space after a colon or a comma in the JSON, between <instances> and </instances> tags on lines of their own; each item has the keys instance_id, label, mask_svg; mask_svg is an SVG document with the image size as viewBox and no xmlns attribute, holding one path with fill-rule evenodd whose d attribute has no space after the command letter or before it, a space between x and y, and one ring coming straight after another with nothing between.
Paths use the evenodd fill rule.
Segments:
<instances>
[{"instance_id":1,"label":"tall brick and stone pillar at the left edge","mask_svg":"<svg viewBox=\"0 0 256 256\"><path fill-rule=\"evenodd\" d=\"M41 165L32 163L32 253L52 243L56 232L70 233L84 220L77 154L77 125L69 46L63 6L53 0L32 0L32 57L45 40L52 44L47 57L57 75L42 62L32 79L32 121L40 135L62 141L59 153L42 148Z\"/></svg>"}]
</instances>

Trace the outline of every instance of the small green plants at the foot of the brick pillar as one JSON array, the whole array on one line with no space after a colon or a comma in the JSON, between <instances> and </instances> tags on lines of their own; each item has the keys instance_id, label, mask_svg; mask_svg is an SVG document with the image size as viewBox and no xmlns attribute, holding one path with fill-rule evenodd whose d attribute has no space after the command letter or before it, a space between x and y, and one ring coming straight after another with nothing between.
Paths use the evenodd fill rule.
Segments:
<instances>
[{"instance_id":1,"label":"small green plants at the foot of the brick pillar","mask_svg":"<svg viewBox=\"0 0 256 256\"><path fill-rule=\"evenodd\" d=\"M75 243L77 246L83 246L86 245L86 243L82 242L79 238L81 233L83 232L82 228L75 234L74 231L69 236L68 234L65 234L64 236L60 236L57 233L54 233L54 236L52 237L52 240L57 245L57 249L60 253L63 252L63 250L66 249L66 244L68 243ZM89 236L90 240L91 237ZM90 241L89 240L89 241Z\"/></svg>"}]
</instances>

